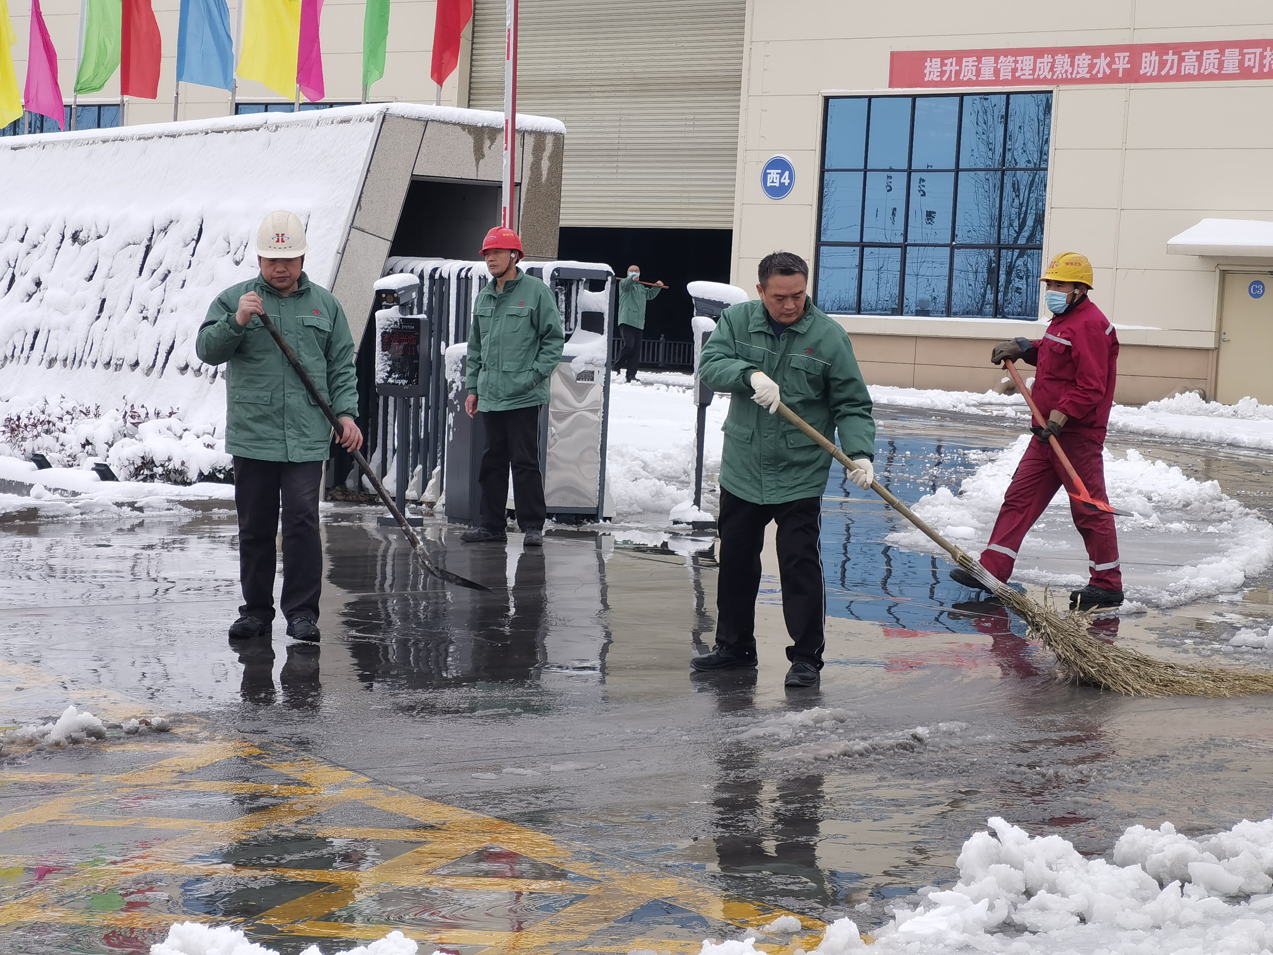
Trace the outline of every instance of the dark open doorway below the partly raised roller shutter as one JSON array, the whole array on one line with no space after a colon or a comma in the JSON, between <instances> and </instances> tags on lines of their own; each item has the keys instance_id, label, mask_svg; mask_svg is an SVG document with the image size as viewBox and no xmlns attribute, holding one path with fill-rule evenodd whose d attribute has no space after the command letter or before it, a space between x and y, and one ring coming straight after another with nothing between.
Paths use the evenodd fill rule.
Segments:
<instances>
[{"instance_id":1,"label":"dark open doorway below the partly raised roller shutter","mask_svg":"<svg viewBox=\"0 0 1273 955\"><path fill-rule=\"evenodd\" d=\"M690 341L694 302L691 281L729 281L731 229L603 229L563 227L558 255L582 262L605 262L615 275L640 266L642 281L670 285L645 308L645 340Z\"/></svg>"}]
</instances>

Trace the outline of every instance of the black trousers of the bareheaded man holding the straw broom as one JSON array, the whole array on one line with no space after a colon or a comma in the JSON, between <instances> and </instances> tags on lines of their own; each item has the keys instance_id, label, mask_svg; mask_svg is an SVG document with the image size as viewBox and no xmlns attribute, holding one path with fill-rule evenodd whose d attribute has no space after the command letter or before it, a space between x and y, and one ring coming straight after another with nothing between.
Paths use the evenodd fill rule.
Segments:
<instances>
[{"instance_id":1,"label":"black trousers of the bareheaded man holding the straw broom","mask_svg":"<svg viewBox=\"0 0 1273 955\"><path fill-rule=\"evenodd\" d=\"M721 573L717 582L717 643L756 649L756 593L765 526L778 522L778 574L783 618L793 646L787 658L822 668L826 590L822 584L822 499L754 504L721 489Z\"/></svg>"}]
</instances>

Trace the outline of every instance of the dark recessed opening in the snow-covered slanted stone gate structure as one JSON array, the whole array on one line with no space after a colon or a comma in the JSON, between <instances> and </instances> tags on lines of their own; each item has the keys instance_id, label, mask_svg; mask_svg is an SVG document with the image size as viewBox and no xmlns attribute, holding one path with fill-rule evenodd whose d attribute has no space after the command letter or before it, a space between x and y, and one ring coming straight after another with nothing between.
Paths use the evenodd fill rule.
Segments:
<instances>
[{"instance_id":1,"label":"dark recessed opening in the snow-covered slanted stone gate structure","mask_svg":"<svg viewBox=\"0 0 1273 955\"><path fill-rule=\"evenodd\" d=\"M474 261L498 224L499 183L412 180L390 255Z\"/></svg>"}]
</instances>

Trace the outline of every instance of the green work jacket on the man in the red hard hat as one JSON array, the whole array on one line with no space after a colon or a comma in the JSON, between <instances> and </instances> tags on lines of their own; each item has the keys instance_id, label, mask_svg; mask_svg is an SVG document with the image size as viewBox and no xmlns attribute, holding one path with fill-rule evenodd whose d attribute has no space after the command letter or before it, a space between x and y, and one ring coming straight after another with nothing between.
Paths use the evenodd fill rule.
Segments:
<instances>
[{"instance_id":1,"label":"green work jacket on the man in the red hard hat","mask_svg":"<svg viewBox=\"0 0 1273 955\"><path fill-rule=\"evenodd\" d=\"M546 405L563 343L561 316L547 285L521 269L498 294L495 280L486 283L474 302L465 365L465 386L477 396L477 410Z\"/></svg>"}]
</instances>

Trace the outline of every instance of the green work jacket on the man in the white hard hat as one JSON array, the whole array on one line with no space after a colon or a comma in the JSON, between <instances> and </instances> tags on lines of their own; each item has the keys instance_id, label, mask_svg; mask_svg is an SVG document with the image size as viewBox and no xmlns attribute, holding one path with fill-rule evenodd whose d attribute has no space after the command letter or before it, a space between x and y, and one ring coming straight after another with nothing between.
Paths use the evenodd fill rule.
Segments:
<instances>
[{"instance_id":1,"label":"green work jacket on the man in the white hard hat","mask_svg":"<svg viewBox=\"0 0 1273 955\"><path fill-rule=\"evenodd\" d=\"M234 321L238 301L255 292L270 321L292 345L318 392L337 416L358 416L354 339L336 297L300 272L284 298L257 275L232 285L207 307L195 353L206 364L225 363L225 451L260 461L326 461L331 424L260 316Z\"/></svg>"}]
</instances>

